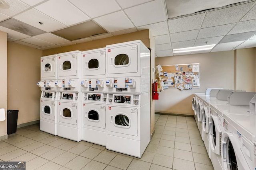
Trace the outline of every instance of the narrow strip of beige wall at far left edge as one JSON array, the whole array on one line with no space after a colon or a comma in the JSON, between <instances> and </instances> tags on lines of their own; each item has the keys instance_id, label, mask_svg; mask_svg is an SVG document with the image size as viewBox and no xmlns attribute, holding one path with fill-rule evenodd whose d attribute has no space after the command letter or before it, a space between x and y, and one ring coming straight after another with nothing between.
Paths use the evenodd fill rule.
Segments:
<instances>
[{"instance_id":1,"label":"narrow strip of beige wall at far left edge","mask_svg":"<svg viewBox=\"0 0 256 170\"><path fill-rule=\"evenodd\" d=\"M7 33L0 31L0 108L7 113ZM6 115L7 116L7 115ZM0 141L7 139L7 121L0 121Z\"/></svg>"}]
</instances>

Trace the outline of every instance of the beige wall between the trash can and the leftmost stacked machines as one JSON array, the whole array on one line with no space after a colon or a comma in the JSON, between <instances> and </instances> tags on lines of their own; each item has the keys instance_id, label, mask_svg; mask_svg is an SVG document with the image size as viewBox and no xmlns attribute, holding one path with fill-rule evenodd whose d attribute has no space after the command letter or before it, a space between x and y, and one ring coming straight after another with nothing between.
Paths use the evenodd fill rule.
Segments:
<instances>
[{"instance_id":1,"label":"beige wall between the trash can and the leftmost stacked machines","mask_svg":"<svg viewBox=\"0 0 256 170\"><path fill-rule=\"evenodd\" d=\"M8 42L8 109L19 110L17 124L40 119L42 50Z\"/></svg>"}]
</instances>

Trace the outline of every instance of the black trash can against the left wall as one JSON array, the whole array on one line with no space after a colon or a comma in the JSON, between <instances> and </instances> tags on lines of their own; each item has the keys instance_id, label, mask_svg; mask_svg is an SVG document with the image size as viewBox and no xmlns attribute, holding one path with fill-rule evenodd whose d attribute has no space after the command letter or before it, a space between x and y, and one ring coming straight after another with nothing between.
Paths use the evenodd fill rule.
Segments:
<instances>
[{"instance_id":1,"label":"black trash can against the left wall","mask_svg":"<svg viewBox=\"0 0 256 170\"><path fill-rule=\"evenodd\" d=\"M18 110L7 110L7 134L16 133Z\"/></svg>"}]
</instances>

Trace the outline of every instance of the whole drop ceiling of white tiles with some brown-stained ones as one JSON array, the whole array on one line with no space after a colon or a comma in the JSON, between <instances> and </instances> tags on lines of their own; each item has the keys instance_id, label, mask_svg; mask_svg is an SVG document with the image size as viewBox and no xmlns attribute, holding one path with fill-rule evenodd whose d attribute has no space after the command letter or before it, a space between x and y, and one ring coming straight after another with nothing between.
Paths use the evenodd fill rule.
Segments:
<instances>
[{"instance_id":1,"label":"whole drop ceiling of white tiles with some brown-stained ones","mask_svg":"<svg viewBox=\"0 0 256 170\"><path fill-rule=\"evenodd\" d=\"M1 0L3 1L3 0ZM8 41L51 49L150 29L155 57L216 44L210 53L256 47L256 0L5 0Z\"/></svg>"}]
</instances>

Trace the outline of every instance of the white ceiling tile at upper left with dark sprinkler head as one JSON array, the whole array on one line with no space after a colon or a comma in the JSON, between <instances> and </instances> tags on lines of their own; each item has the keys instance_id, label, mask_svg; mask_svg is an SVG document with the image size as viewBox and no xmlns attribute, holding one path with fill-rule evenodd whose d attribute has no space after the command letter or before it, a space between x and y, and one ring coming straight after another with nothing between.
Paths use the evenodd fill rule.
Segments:
<instances>
[{"instance_id":1,"label":"white ceiling tile at upper left with dark sprinkler head","mask_svg":"<svg viewBox=\"0 0 256 170\"><path fill-rule=\"evenodd\" d=\"M45 14L35 9L30 9L15 16L14 18L47 32L66 27L66 25L46 16ZM39 22L42 22L42 24Z\"/></svg>"}]
</instances>

